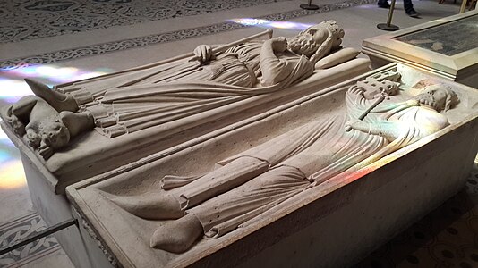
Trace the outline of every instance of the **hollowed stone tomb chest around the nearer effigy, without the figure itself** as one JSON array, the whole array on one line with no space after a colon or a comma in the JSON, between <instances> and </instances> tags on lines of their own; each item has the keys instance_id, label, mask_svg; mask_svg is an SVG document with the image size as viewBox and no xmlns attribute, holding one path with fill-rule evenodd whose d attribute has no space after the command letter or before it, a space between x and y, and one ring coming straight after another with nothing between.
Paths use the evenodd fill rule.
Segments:
<instances>
[{"instance_id":1,"label":"hollowed stone tomb chest around the nearer effigy, without the figure itself","mask_svg":"<svg viewBox=\"0 0 478 268\"><path fill-rule=\"evenodd\" d=\"M309 188L222 237L201 239L182 254L153 249L149 238L165 222L142 220L110 200L112 195L159 190L166 174L208 172L214 163L244 148L317 116L333 115L343 107L348 86L395 68L404 85L431 79L456 90L461 102L446 113L450 126L358 171ZM463 187L478 150L477 94L474 88L393 63L196 138L190 147L161 159L83 180L68 187L67 195L81 222L87 222L95 239L122 267L353 264Z\"/></svg>"}]
</instances>

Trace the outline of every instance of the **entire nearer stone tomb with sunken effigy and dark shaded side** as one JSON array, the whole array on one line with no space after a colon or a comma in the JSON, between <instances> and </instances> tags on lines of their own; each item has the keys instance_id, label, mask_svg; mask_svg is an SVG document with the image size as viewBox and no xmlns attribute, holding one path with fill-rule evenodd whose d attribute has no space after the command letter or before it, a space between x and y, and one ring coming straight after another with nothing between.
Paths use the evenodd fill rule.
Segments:
<instances>
[{"instance_id":1,"label":"entire nearer stone tomb with sunken effigy and dark shaded side","mask_svg":"<svg viewBox=\"0 0 478 268\"><path fill-rule=\"evenodd\" d=\"M341 267L465 185L477 97L391 63L67 195L119 267Z\"/></svg>"}]
</instances>

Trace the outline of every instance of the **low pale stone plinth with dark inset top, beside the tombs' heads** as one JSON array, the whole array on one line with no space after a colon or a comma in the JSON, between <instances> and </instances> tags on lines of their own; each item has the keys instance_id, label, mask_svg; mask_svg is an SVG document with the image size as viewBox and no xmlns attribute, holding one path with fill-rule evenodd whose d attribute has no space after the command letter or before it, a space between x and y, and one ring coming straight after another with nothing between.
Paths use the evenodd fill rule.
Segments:
<instances>
[{"instance_id":1,"label":"low pale stone plinth with dark inset top, beside the tombs' heads","mask_svg":"<svg viewBox=\"0 0 478 268\"><path fill-rule=\"evenodd\" d=\"M363 40L373 66L404 63L421 71L478 88L478 11Z\"/></svg>"}]
</instances>

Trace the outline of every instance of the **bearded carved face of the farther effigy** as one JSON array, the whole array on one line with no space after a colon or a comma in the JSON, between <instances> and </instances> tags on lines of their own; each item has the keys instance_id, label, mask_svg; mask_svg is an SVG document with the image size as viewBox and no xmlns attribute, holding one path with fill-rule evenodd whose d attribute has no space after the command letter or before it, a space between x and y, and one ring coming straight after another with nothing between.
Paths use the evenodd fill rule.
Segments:
<instances>
[{"instance_id":1,"label":"bearded carved face of the farther effigy","mask_svg":"<svg viewBox=\"0 0 478 268\"><path fill-rule=\"evenodd\" d=\"M319 46L327 39L328 30L320 25L314 25L300 32L294 38L287 40L289 49L296 54L310 57Z\"/></svg>"}]
</instances>

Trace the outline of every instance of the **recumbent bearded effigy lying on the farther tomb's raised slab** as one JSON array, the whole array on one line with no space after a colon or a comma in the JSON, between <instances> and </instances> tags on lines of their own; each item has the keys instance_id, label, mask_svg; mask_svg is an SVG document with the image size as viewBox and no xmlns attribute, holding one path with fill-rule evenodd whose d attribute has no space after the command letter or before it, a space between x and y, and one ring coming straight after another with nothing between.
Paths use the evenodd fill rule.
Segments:
<instances>
[{"instance_id":1,"label":"recumbent bearded effigy lying on the farther tomb's raised slab","mask_svg":"<svg viewBox=\"0 0 478 268\"><path fill-rule=\"evenodd\" d=\"M314 64L341 47L343 37L344 30L336 21L323 21L288 40L244 42L217 54L210 46L201 45L189 61L78 81L55 90L34 80L26 81L36 96L60 113L54 121L62 125L62 130L70 131L70 138L93 129L114 138L287 88L311 76ZM24 103L4 112L6 121L15 121L16 117L27 125L28 116L16 114L28 110L22 107ZM49 133L56 135L54 131ZM47 159L68 144L68 140L59 140L52 139L40 155Z\"/></svg>"}]
</instances>

